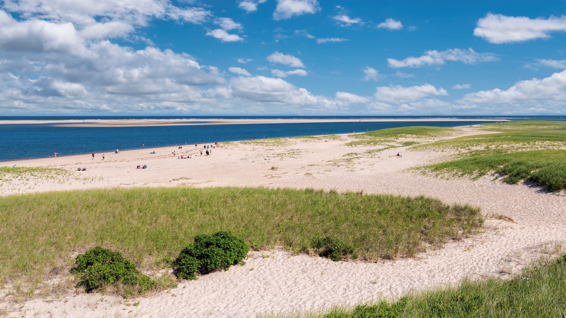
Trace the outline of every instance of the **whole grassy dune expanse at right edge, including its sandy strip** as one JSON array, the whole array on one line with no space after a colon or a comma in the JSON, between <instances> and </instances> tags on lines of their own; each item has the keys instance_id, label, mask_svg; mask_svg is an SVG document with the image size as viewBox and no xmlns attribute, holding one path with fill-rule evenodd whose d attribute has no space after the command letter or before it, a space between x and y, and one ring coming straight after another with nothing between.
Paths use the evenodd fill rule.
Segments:
<instances>
[{"instance_id":1,"label":"whole grassy dune expanse at right edge, including its sandy strip","mask_svg":"<svg viewBox=\"0 0 566 318\"><path fill-rule=\"evenodd\" d=\"M483 124L496 134L464 136L415 145L411 149L458 151L456 160L422 167L434 173L503 181L532 181L551 191L566 189L566 122L521 121Z\"/></svg>"}]
</instances>

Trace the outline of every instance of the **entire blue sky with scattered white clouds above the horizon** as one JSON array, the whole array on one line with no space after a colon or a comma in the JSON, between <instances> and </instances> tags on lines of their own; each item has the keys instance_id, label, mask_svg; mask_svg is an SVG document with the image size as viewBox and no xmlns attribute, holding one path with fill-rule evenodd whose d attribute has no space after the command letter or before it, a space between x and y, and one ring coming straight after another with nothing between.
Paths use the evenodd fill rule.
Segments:
<instances>
[{"instance_id":1,"label":"entire blue sky with scattered white clouds above the horizon","mask_svg":"<svg viewBox=\"0 0 566 318\"><path fill-rule=\"evenodd\" d=\"M566 0L0 0L0 115L564 115Z\"/></svg>"}]
</instances>

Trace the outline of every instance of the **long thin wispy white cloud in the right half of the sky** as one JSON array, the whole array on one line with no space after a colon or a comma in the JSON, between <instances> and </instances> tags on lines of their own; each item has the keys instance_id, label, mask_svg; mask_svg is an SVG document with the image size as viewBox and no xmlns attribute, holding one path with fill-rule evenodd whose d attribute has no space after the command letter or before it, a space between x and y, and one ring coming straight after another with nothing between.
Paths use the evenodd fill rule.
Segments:
<instances>
[{"instance_id":1,"label":"long thin wispy white cloud in the right half of the sky","mask_svg":"<svg viewBox=\"0 0 566 318\"><path fill-rule=\"evenodd\" d=\"M445 61L459 61L466 64L479 62L499 61L499 58L492 53L477 53L471 48L468 50L450 49L445 51L426 51L420 57L408 57L401 61L388 58L389 67L421 67L423 65L443 65Z\"/></svg>"}]
</instances>

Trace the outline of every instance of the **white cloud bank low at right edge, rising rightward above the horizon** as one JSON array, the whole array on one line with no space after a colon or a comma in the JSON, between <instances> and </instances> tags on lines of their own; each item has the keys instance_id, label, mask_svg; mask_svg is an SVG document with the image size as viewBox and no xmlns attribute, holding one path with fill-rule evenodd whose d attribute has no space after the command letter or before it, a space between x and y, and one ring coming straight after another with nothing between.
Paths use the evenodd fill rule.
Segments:
<instances>
[{"instance_id":1,"label":"white cloud bank low at right edge, rising rightward above the horizon","mask_svg":"<svg viewBox=\"0 0 566 318\"><path fill-rule=\"evenodd\" d=\"M560 106L564 111L566 102L566 70L543 79L522 80L502 91L499 88L466 94L462 104L516 104ZM559 102L559 103L557 103Z\"/></svg>"}]
</instances>

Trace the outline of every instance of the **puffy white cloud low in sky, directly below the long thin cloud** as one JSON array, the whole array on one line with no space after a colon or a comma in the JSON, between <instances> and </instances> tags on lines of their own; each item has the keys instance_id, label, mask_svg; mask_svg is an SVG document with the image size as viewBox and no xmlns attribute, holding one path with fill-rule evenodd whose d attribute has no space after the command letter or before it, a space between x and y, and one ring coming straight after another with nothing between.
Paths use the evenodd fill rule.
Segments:
<instances>
[{"instance_id":1,"label":"puffy white cloud low in sky, directly below the long thin cloud","mask_svg":"<svg viewBox=\"0 0 566 318\"><path fill-rule=\"evenodd\" d=\"M375 100L380 102L413 102L428 96L446 96L448 92L444 88L436 88L431 84L421 86L403 87L380 86L376 87Z\"/></svg>"}]
</instances>

